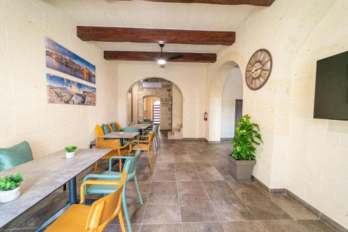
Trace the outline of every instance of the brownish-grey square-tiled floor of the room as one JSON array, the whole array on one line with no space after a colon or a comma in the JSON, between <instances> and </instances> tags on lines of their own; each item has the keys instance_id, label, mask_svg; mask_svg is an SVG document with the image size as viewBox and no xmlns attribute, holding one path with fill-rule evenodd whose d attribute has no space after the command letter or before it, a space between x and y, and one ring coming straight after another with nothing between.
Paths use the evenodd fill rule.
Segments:
<instances>
[{"instance_id":1,"label":"brownish-grey square-tiled floor of the room","mask_svg":"<svg viewBox=\"0 0 348 232\"><path fill-rule=\"evenodd\" d=\"M143 205L134 183L127 185L133 231L334 231L287 196L270 196L254 183L235 182L226 157L230 150L228 142L162 139L154 173L144 153L137 174ZM60 190L8 229L33 231L67 199ZM120 231L118 220L106 231Z\"/></svg>"}]
</instances>

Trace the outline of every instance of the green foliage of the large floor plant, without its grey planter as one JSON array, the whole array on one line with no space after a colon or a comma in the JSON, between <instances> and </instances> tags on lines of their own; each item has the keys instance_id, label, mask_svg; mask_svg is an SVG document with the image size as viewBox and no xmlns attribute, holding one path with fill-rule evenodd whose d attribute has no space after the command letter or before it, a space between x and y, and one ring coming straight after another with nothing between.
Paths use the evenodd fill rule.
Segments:
<instances>
[{"instance_id":1,"label":"green foliage of the large floor plant, without its grey planter","mask_svg":"<svg viewBox=\"0 0 348 232\"><path fill-rule=\"evenodd\" d=\"M263 142L259 125L251 123L250 118L251 116L246 114L237 121L239 127L235 127L235 137L231 141L231 155L235 160L255 160L255 145L260 145L259 141Z\"/></svg>"}]
</instances>

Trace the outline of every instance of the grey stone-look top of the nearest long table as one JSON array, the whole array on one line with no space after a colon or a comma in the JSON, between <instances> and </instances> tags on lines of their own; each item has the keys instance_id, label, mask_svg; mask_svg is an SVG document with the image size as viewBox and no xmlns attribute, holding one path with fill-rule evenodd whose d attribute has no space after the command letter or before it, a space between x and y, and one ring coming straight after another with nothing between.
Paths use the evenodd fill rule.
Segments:
<instances>
[{"instance_id":1,"label":"grey stone-look top of the nearest long table","mask_svg":"<svg viewBox=\"0 0 348 232\"><path fill-rule=\"evenodd\" d=\"M65 150L60 150L0 172L0 176L7 176L19 171L24 178L20 185L21 196L14 201L0 203L0 228L100 160L111 150L78 149L72 159L66 159Z\"/></svg>"}]
</instances>

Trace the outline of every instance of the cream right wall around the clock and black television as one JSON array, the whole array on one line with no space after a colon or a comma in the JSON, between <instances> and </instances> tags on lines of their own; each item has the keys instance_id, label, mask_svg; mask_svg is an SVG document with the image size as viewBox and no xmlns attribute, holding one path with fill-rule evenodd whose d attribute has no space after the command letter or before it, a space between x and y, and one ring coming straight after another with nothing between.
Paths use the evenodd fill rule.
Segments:
<instances>
[{"instance_id":1,"label":"cream right wall around the clock and black television","mask_svg":"<svg viewBox=\"0 0 348 232\"><path fill-rule=\"evenodd\" d=\"M345 122L313 119L315 63L347 51L348 2L275 1L258 8L237 29L234 45L207 68L207 109L219 109L219 69L235 61L242 71L253 52L268 49L273 69L267 84L251 91L244 81L244 114L260 125L253 175L271 188L288 188L348 227L347 128ZM216 90L216 86L219 88ZM211 113L212 114L212 113ZM214 112L221 116L219 111ZM206 138L220 134L210 121ZM346 200L343 200L346 199ZM343 202L345 201L345 202Z\"/></svg>"}]
</instances>

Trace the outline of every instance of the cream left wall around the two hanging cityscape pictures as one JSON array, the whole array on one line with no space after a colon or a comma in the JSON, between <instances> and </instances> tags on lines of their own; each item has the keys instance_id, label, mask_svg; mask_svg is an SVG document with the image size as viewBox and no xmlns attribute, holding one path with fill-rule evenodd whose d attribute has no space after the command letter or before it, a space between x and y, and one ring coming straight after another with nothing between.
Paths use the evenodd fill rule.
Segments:
<instances>
[{"instance_id":1,"label":"cream left wall around the two hanging cityscape pictures","mask_svg":"<svg viewBox=\"0 0 348 232\"><path fill-rule=\"evenodd\" d=\"M97 105L47 103L45 36L96 66ZM49 1L0 1L0 147L29 141L34 158L77 145L88 148L94 126L116 120L117 66L76 36L76 25Z\"/></svg>"}]
</instances>

